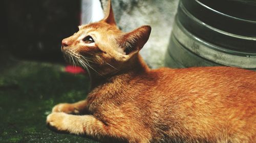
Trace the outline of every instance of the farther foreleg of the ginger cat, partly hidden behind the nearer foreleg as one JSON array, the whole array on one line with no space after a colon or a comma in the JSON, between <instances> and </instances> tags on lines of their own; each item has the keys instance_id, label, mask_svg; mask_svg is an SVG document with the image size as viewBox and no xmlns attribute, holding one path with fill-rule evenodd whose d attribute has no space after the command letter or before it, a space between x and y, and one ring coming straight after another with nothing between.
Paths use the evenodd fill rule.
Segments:
<instances>
[{"instance_id":1,"label":"farther foreleg of the ginger cat, partly hidden behind the nearer foreleg","mask_svg":"<svg viewBox=\"0 0 256 143\"><path fill-rule=\"evenodd\" d=\"M76 103L60 103L52 108L52 112L65 112L65 113L82 113L86 110L87 100L82 100Z\"/></svg>"}]
</instances>

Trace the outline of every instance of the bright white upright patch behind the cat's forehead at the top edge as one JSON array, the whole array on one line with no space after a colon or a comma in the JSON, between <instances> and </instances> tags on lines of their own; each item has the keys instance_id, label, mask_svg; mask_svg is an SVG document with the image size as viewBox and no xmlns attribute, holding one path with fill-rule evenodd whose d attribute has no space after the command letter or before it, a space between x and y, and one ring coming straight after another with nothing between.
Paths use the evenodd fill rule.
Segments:
<instances>
[{"instance_id":1,"label":"bright white upright patch behind the cat's forehead at the top edge","mask_svg":"<svg viewBox=\"0 0 256 143\"><path fill-rule=\"evenodd\" d=\"M81 24L97 22L104 17L99 0L82 0L81 7Z\"/></svg>"}]
</instances>

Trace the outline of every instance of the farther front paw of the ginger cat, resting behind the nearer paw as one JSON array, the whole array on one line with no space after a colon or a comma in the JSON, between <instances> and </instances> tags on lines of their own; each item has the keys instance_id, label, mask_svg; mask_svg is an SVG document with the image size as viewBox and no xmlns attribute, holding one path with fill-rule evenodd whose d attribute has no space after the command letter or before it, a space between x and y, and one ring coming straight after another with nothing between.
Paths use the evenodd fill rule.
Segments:
<instances>
[{"instance_id":1,"label":"farther front paw of the ginger cat, resting behind the nearer paw","mask_svg":"<svg viewBox=\"0 0 256 143\"><path fill-rule=\"evenodd\" d=\"M60 103L52 108L52 112L79 113L73 104Z\"/></svg>"}]
</instances>

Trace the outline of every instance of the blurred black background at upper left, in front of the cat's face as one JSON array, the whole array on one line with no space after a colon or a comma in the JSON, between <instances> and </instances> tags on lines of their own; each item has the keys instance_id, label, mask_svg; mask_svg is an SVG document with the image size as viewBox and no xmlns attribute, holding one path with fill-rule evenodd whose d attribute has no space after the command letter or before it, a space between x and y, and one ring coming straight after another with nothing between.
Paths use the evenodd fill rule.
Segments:
<instances>
[{"instance_id":1,"label":"blurred black background at upper left, in front of the cat's face","mask_svg":"<svg viewBox=\"0 0 256 143\"><path fill-rule=\"evenodd\" d=\"M62 61L60 42L78 30L80 1L2 1L1 50L21 59Z\"/></svg>"}]
</instances>

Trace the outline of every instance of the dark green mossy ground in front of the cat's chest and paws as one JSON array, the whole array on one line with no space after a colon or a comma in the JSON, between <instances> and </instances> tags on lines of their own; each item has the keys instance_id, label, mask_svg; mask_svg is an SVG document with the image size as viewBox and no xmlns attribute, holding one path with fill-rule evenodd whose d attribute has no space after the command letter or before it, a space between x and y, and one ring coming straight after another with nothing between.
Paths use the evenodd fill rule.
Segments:
<instances>
[{"instance_id":1,"label":"dark green mossy ground in front of the cat's chest and paws","mask_svg":"<svg viewBox=\"0 0 256 143\"><path fill-rule=\"evenodd\" d=\"M0 68L0 142L96 142L54 132L46 117L54 105L86 98L88 78L51 63L12 61Z\"/></svg>"}]
</instances>

